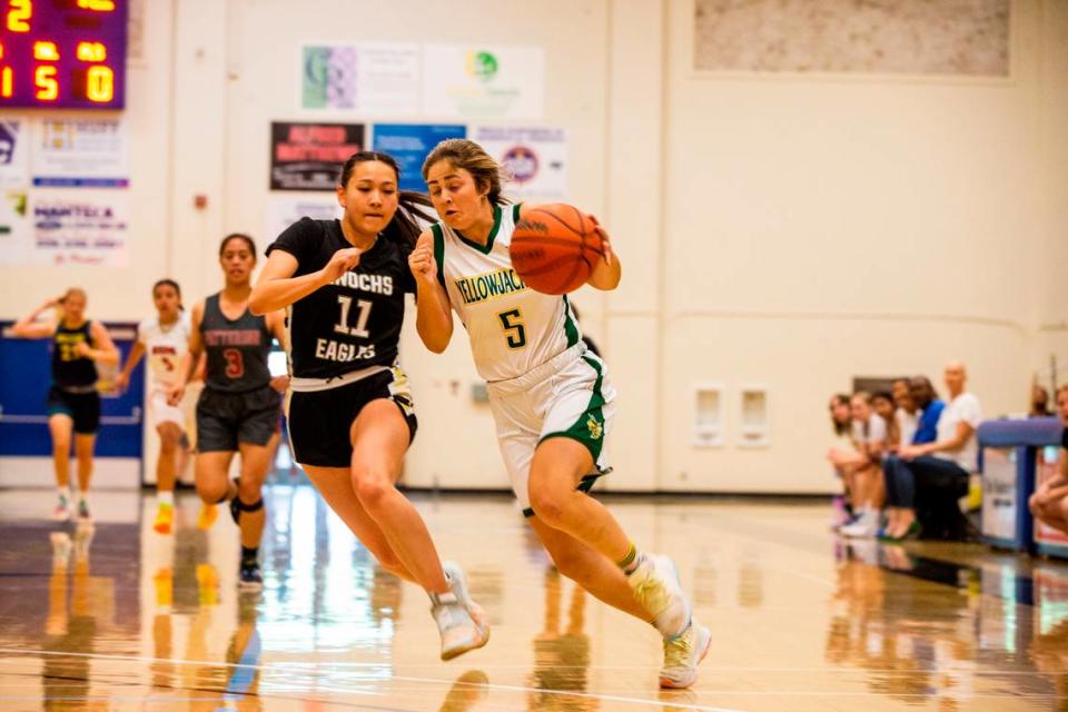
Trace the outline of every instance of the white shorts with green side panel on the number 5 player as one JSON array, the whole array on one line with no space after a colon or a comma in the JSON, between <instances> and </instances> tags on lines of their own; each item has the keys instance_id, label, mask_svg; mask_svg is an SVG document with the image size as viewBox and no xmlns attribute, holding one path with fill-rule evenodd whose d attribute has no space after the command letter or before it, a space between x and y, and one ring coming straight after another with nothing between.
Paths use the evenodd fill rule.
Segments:
<instances>
[{"instance_id":1,"label":"white shorts with green side panel on the number 5 player","mask_svg":"<svg viewBox=\"0 0 1068 712\"><path fill-rule=\"evenodd\" d=\"M525 516L533 516L528 494L535 448L552 437L567 437L590 451L593 472L578 490L589 492L611 472L605 439L615 421L615 387L607 368L584 344L518 378L487 384L497 443L512 490Z\"/></svg>"}]
</instances>

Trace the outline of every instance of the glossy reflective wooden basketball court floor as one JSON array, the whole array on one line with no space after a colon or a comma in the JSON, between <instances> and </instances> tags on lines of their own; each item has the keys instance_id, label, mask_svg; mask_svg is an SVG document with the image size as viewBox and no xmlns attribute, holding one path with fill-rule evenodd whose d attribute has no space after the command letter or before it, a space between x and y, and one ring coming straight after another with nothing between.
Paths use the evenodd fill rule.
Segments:
<instances>
[{"instance_id":1,"label":"glossy reflective wooden basketball court floor","mask_svg":"<svg viewBox=\"0 0 1068 712\"><path fill-rule=\"evenodd\" d=\"M225 514L200 528L182 495L164 537L151 497L101 500L95 526L0 520L0 709L1068 710L1068 566L843 543L822 508L613 505L713 630L696 688L666 692L655 632L562 577L507 501L416 498L494 625L446 664L425 595L307 486L270 488L253 595Z\"/></svg>"}]
</instances>

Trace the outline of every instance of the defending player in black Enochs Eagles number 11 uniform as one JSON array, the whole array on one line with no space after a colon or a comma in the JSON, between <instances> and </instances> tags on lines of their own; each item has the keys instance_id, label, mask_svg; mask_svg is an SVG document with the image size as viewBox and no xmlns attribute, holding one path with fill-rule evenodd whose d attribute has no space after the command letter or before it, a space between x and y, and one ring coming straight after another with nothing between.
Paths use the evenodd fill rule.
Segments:
<instances>
[{"instance_id":1,"label":"defending player in black Enochs Eagles number 11 uniform","mask_svg":"<svg viewBox=\"0 0 1068 712\"><path fill-rule=\"evenodd\" d=\"M415 291L413 216L425 218L418 205L428 205L402 194L398 180L392 157L352 156L337 187L344 217L286 229L267 249L249 304L259 314L289 310L295 459L383 567L429 594L448 660L485 645L490 629L463 572L441 562L419 513L395 487L416 429L397 343L405 294Z\"/></svg>"}]
</instances>

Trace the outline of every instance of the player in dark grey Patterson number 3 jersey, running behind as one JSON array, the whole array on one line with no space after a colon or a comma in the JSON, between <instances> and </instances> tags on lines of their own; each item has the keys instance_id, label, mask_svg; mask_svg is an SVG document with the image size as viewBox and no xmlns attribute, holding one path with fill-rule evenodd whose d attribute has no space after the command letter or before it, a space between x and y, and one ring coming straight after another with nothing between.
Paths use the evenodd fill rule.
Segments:
<instances>
[{"instance_id":1,"label":"player in dark grey Patterson number 3 jersey, running behind","mask_svg":"<svg viewBox=\"0 0 1068 712\"><path fill-rule=\"evenodd\" d=\"M263 486L270 465L267 443L275 433L280 406L278 393L288 378L271 378L267 354L271 338L285 344L285 316L273 312L254 316L248 310L256 245L247 235L228 235L219 246L226 287L192 309L189 352L182 357L182 376L168 400L177 405L192 377L200 354L207 354L204 390L197 402L197 493L206 505L230 502L230 513L241 530L241 587L263 585L259 541L264 534ZM240 477L231 483L227 472L234 454L241 454Z\"/></svg>"}]
</instances>

